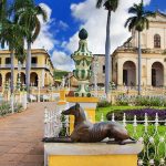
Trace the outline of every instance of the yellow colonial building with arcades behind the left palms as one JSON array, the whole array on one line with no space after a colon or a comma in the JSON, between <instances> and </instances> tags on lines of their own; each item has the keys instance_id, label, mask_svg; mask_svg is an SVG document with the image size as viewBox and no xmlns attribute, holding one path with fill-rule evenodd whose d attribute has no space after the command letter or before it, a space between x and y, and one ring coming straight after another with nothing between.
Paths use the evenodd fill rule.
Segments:
<instances>
[{"instance_id":1,"label":"yellow colonial building with arcades behind the left palms","mask_svg":"<svg viewBox=\"0 0 166 166\"><path fill-rule=\"evenodd\" d=\"M14 84L17 84L18 75L20 73L20 81L25 84L25 62L20 65L14 59ZM40 83L41 87L53 84L53 70L51 58L44 49L32 50L32 63L30 81L32 86L38 86ZM2 87L6 82L10 82L11 76L11 59L10 52L7 50L0 51L0 86Z\"/></svg>"}]
</instances>

